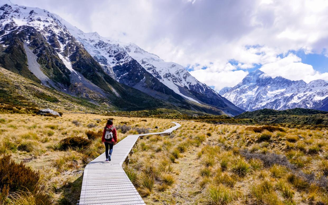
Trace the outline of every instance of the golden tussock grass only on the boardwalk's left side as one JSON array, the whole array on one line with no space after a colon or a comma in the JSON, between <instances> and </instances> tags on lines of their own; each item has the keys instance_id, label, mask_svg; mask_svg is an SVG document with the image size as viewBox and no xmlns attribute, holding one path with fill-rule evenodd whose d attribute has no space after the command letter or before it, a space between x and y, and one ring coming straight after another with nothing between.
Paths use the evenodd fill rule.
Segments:
<instances>
[{"instance_id":1,"label":"golden tussock grass only on the boardwalk's left side","mask_svg":"<svg viewBox=\"0 0 328 205\"><path fill-rule=\"evenodd\" d=\"M79 199L84 166L105 150L98 131L102 132L108 118L95 114L64 114L57 118L1 114L0 154L9 154L15 162L23 162L32 170L39 171L40 186L52 201L74 204ZM118 140L138 132L164 131L171 126L170 120L164 119L113 119L117 128L122 127L118 129ZM91 140L88 140L87 132ZM80 144L67 146L62 141L65 138L80 137L84 139ZM11 203L9 199L6 199L8 204ZM12 203L24 204L21 201Z\"/></svg>"}]
</instances>

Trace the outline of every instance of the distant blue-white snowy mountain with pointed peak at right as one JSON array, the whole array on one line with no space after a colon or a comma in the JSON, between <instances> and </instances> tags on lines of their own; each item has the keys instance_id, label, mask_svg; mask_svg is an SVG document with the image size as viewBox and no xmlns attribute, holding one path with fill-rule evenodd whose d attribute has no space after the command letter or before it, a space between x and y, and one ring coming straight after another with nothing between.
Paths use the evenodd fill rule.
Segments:
<instances>
[{"instance_id":1,"label":"distant blue-white snowy mountain with pointed peak at right","mask_svg":"<svg viewBox=\"0 0 328 205\"><path fill-rule=\"evenodd\" d=\"M324 110L324 106L327 107L324 99L328 97L328 83L324 80L309 83L303 80L292 81L281 76L272 78L256 70L235 87L223 88L219 93L246 111L263 108Z\"/></svg>"}]
</instances>

